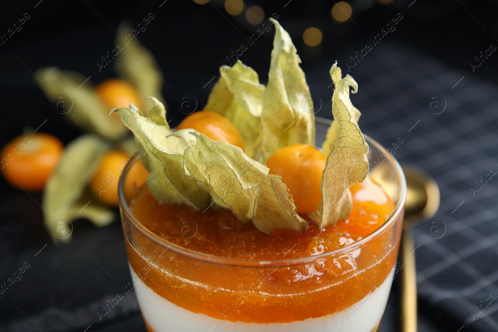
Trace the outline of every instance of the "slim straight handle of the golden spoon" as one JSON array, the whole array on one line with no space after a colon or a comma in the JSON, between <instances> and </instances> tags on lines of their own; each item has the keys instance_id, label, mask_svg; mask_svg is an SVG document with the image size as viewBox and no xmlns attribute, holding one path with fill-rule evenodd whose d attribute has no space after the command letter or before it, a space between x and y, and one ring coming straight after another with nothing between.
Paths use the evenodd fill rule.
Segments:
<instances>
[{"instance_id":1,"label":"slim straight handle of the golden spoon","mask_svg":"<svg viewBox=\"0 0 498 332\"><path fill-rule=\"evenodd\" d=\"M401 233L401 331L417 332L417 278L411 229Z\"/></svg>"}]
</instances>

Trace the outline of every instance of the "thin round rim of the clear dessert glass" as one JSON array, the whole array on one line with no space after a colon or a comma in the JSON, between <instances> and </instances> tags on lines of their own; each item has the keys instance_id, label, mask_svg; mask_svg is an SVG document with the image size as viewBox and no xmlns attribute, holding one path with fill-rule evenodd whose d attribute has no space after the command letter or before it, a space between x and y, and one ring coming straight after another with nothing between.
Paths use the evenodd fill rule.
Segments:
<instances>
[{"instance_id":1,"label":"thin round rim of the clear dessert glass","mask_svg":"<svg viewBox=\"0 0 498 332\"><path fill-rule=\"evenodd\" d=\"M321 117L315 117L315 122L320 123L320 124L326 124L330 125L330 120L321 118ZM157 245L163 247L165 250L169 250L171 252L174 252L176 254L189 257L192 259L200 260L203 262L208 262L208 263L214 263L214 264L221 264L221 265L230 265L230 266L238 266L238 267L264 267L264 266L272 266L274 263L277 263L279 265L284 265L284 266L293 266L293 265L301 265L301 264L306 264L310 262L316 262L317 260L324 260L327 259L329 256L338 256L341 255L344 252L349 252L352 250L355 250L359 247L362 247L364 244L372 241L373 239L377 238L380 236L380 234L383 233L385 229L387 229L394 221L396 221L401 214L401 211L403 210L403 206L405 203L405 200L402 199L403 197L406 197L406 180L403 174L403 170L401 169L401 166L397 162L397 160L391 156L386 149L382 145L380 145L376 140L371 138L368 135L365 135L366 140L368 141L369 144L374 145L379 151L384 153L385 156L387 156L387 159L391 166L394 167L396 170L396 175L398 177L398 183L401 184L401 191L398 190L398 203L396 204L396 207L392 214L387 218L387 220L380 225L377 229L375 229L372 233L369 235L361 238L360 240L349 244L345 247L342 247L340 249L334 250L334 251L329 251L325 252L320 255L314 255L310 257L300 257L300 258L289 258L289 259L277 259L277 260L245 260L245 259L235 259L235 258L225 258L225 257L218 257L214 254L207 254L203 252L198 252L194 250L190 250L187 248L184 248L180 245L174 244L173 242L170 242L168 240L163 239L162 237L154 234L152 231L147 229L144 225L138 221L133 214L129 211L128 205L126 204L126 201L124 199L124 194L123 194L123 182L124 179L126 178L127 172L130 166L127 167L127 169L123 172L123 175L120 177L119 181L119 187L118 187L118 196L119 196L119 204L120 204L120 210L122 211L123 215L125 218L127 218L131 224L135 227L136 230L138 230L143 236L145 236L148 240L156 243Z\"/></svg>"}]
</instances>

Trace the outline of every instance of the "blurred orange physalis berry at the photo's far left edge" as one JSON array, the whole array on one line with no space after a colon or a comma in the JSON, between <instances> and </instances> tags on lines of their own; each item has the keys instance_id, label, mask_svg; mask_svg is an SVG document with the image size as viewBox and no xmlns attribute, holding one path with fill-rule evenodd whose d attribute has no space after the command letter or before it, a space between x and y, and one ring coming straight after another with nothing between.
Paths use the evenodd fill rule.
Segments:
<instances>
[{"instance_id":1,"label":"blurred orange physalis berry at the photo's far left edge","mask_svg":"<svg viewBox=\"0 0 498 332\"><path fill-rule=\"evenodd\" d=\"M8 142L1 150L1 172L15 188L41 191L61 157L64 145L46 133L28 133Z\"/></svg>"}]
</instances>

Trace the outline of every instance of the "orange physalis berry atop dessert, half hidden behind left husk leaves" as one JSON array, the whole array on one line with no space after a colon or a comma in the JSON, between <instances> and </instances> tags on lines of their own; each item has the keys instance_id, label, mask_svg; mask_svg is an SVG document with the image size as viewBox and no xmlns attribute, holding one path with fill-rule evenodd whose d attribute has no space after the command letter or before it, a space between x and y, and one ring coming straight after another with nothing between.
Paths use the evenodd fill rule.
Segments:
<instances>
[{"instance_id":1,"label":"orange physalis berry atop dessert, half hidden behind left husk leaves","mask_svg":"<svg viewBox=\"0 0 498 332\"><path fill-rule=\"evenodd\" d=\"M176 130L192 128L214 141L224 141L244 149L244 140L239 130L225 116L211 111L190 114L178 124Z\"/></svg>"}]
</instances>

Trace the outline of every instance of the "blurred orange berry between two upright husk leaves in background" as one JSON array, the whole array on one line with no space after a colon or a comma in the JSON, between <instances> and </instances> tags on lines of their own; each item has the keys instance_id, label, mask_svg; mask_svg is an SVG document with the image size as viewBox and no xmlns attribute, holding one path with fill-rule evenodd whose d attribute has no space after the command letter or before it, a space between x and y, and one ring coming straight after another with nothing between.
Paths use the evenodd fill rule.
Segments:
<instances>
[{"instance_id":1,"label":"blurred orange berry between two upright husk leaves in background","mask_svg":"<svg viewBox=\"0 0 498 332\"><path fill-rule=\"evenodd\" d=\"M118 107L128 107L133 103L137 108L143 110L142 98L131 84L124 80L112 78L101 82L96 87L97 94L106 105L107 111ZM111 114L119 120L118 113Z\"/></svg>"}]
</instances>

